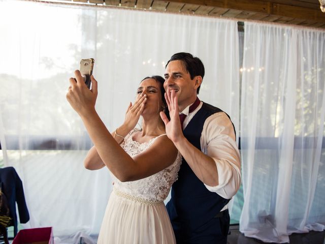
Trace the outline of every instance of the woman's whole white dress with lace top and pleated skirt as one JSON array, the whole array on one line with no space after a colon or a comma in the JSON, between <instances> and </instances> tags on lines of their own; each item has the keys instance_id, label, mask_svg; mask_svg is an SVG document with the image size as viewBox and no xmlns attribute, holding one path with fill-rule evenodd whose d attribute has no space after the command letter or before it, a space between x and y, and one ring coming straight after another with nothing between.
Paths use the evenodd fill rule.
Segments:
<instances>
[{"instance_id":1,"label":"woman's whole white dress with lace top and pleated skirt","mask_svg":"<svg viewBox=\"0 0 325 244\"><path fill-rule=\"evenodd\" d=\"M131 157L146 150L157 138L140 144L132 139L137 131L131 131L121 144ZM140 180L121 182L111 174L114 189L106 207L99 244L176 243L163 201L177 179L181 160L178 153L171 166Z\"/></svg>"}]
</instances>

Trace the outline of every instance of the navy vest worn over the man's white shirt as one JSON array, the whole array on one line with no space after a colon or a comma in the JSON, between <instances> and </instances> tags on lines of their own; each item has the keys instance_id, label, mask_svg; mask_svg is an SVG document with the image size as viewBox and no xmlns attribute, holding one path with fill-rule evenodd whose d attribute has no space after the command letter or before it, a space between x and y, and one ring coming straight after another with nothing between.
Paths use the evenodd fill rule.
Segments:
<instances>
[{"instance_id":1,"label":"navy vest worn over the man's white shirt","mask_svg":"<svg viewBox=\"0 0 325 244\"><path fill-rule=\"evenodd\" d=\"M183 131L186 139L199 150L205 120L217 112L222 110L203 103ZM172 186L171 200L166 205L176 240L187 239L193 231L215 217L228 202L229 199L210 192L183 159L178 179Z\"/></svg>"}]
</instances>

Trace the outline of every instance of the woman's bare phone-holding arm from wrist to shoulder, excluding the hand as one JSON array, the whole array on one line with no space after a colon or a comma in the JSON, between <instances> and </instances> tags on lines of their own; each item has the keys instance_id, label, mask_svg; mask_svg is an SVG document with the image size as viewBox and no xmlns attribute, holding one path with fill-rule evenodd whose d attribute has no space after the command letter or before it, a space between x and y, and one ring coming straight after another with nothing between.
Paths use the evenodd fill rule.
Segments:
<instances>
[{"instance_id":1,"label":"woman's bare phone-holding arm from wrist to shoulder, excluding the hand","mask_svg":"<svg viewBox=\"0 0 325 244\"><path fill-rule=\"evenodd\" d=\"M132 158L114 140L95 111L81 118L100 158L120 181L150 176L175 161L177 149L167 136L160 136L147 150Z\"/></svg>"}]
</instances>

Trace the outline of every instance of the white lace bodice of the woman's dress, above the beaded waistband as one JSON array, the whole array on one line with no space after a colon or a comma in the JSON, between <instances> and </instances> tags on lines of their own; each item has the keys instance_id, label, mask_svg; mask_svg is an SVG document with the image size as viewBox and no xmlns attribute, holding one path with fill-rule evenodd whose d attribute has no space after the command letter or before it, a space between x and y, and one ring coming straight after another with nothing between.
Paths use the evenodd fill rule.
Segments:
<instances>
[{"instance_id":1,"label":"white lace bodice of the woman's dress, above the beaded waistband","mask_svg":"<svg viewBox=\"0 0 325 244\"><path fill-rule=\"evenodd\" d=\"M124 138L124 142L121 144L122 148L131 157L149 148L157 138L152 138L149 142L139 143L132 139L132 136L138 131L138 129L134 129L128 133ZM114 188L144 199L164 201L168 196L172 184L177 179L181 161L182 156L178 152L176 160L172 165L149 177L135 181L121 182L111 173L114 180Z\"/></svg>"}]
</instances>

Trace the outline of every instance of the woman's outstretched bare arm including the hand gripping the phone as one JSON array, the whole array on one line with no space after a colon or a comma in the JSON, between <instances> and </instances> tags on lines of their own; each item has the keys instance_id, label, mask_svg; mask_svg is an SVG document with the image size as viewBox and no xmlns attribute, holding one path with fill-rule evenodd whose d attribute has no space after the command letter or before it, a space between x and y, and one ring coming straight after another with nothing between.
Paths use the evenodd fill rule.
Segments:
<instances>
[{"instance_id":1,"label":"woman's outstretched bare arm including the hand gripping the phone","mask_svg":"<svg viewBox=\"0 0 325 244\"><path fill-rule=\"evenodd\" d=\"M157 138L148 150L134 159L131 158L113 138L95 111L97 81L91 76L92 89L89 90L80 72L76 71L75 75L77 81L70 78L71 88L67 99L80 115L99 157L119 180L140 179L174 162L177 150L167 136Z\"/></svg>"}]
</instances>

